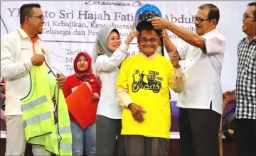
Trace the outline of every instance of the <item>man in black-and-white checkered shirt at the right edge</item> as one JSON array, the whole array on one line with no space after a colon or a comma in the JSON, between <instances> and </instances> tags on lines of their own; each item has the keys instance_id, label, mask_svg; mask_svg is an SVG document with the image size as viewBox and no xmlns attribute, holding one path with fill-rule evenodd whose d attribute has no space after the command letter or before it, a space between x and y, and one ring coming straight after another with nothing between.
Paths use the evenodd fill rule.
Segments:
<instances>
[{"instance_id":1,"label":"man in black-and-white checkered shirt at the right edge","mask_svg":"<svg viewBox=\"0 0 256 156\"><path fill-rule=\"evenodd\" d=\"M238 44L237 110L235 143L238 156L256 156L256 3L247 5Z\"/></svg>"}]
</instances>

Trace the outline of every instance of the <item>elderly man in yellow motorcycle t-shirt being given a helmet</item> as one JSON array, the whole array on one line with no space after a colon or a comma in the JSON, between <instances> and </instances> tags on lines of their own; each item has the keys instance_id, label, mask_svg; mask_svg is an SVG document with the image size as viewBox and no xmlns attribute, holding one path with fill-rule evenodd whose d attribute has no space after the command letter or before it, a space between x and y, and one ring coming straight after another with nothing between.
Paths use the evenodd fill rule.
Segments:
<instances>
[{"instance_id":1,"label":"elderly man in yellow motorcycle t-shirt being given a helmet","mask_svg":"<svg viewBox=\"0 0 256 156\"><path fill-rule=\"evenodd\" d=\"M117 78L117 96L124 105L122 132L127 155L167 155L171 108L169 87L181 92L184 77L175 52L159 55L161 31L151 23L139 30L139 54L127 58Z\"/></svg>"}]
</instances>

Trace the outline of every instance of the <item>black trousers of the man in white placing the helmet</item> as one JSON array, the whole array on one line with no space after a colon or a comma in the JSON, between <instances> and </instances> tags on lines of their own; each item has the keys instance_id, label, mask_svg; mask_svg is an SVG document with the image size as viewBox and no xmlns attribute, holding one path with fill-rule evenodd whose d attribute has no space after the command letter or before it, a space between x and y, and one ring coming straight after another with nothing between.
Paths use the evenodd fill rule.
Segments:
<instances>
[{"instance_id":1,"label":"black trousers of the man in white placing the helmet","mask_svg":"<svg viewBox=\"0 0 256 156\"><path fill-rule=\"evenodd\" d=\"M212 110L180 108L181 156L218 156L220 118Z\"/></svg>"}]
</instances>

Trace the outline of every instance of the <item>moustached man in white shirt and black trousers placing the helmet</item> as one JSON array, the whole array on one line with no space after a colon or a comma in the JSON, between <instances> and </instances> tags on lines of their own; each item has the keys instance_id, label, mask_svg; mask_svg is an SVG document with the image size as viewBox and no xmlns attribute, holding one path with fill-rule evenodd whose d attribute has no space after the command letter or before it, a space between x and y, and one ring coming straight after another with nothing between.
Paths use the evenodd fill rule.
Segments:
<instances>
[{"instance_id":1,"label":"moustached man in white shirt and black trousers placing the helmet","mask_svg":"<svg viewBox=\"0 0 256 156\"><path fill-rule=\"evenodd\" d=\"M222 110L220 73L225 38L216 29L220 13L213 4L198 7L196 33L164 18L150 19L154 28L168 29L186 43L175 46L164 39L166 50L185 60L185 89L178 95L181 156L219 155L218 130Z\"/></svg>"}]
</instances>

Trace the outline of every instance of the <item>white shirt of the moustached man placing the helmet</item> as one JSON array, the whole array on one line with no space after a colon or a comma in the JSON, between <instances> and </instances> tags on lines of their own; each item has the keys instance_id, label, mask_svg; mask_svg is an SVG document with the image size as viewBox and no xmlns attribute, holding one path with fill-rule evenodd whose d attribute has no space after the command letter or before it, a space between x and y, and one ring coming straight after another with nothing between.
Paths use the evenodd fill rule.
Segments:
<instances>
[{"instance_id":1,"label":"white shirt of the moustached man placing the helmet","mask_svg":"<svg viewBox=\"0 0 256 156\"><path fill-rule=\"evenodd\" d=\"M225 51L225 38L218 30L202 35L206 50L184 43L177 51L185 61L183 74L186 84L178 94L177 106L182 108L212 109L222 114L220 74Z\"/></svg>"}]
</instances>

